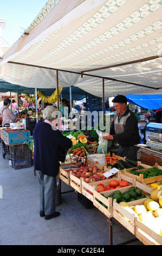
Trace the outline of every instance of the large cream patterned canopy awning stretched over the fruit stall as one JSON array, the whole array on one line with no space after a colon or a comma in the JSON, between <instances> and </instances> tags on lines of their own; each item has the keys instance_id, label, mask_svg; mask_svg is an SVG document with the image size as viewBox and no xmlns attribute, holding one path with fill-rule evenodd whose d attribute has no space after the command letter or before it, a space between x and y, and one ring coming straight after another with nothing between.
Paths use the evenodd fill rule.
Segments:
<instances>
[{"instance_id":1,"label":"large cream patterned canopy awning stretched over the fruit stall","mask_svg":"<svg viewBox=\"0 0 162 256\"><path fill-rule=\"evenodd\" d=\"M162 88L161 0L48 0L5 52L0 76L30 88L105 97ZM160 92L161 93L161 92Z\"/></svg>"}]
</instances>

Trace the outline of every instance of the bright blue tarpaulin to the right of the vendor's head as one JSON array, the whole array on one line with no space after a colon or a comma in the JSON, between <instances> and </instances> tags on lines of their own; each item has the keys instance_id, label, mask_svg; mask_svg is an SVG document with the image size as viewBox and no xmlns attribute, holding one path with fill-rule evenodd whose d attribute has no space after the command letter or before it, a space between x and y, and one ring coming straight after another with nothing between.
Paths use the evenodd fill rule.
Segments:
<instances>
[{"instance_id":1,"label":"bright blue tarpaulin to the right of the vendor's head","mask_svg":"<svg viewBox=\"0 0 162 256\"><path fill-rule=\"evenodd\" d=\"M128 102L133 103L142 108L146 109L158 109L162 107L162 94L151 94L151 95L138 95L128 94L125 95Z\"/></svg>"}]
</instances>

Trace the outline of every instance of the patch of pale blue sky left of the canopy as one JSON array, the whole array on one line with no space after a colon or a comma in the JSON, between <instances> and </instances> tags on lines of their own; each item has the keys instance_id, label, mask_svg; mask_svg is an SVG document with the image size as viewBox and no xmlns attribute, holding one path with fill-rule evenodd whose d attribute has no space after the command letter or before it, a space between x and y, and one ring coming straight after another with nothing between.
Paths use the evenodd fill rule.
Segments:
<instances>
[{"instance_id":1,"label":"patch of pale blue sky left of the canopy","mask_svg":"<svg viewBox=\"0 0 162 256\"><path fill-rule=\"evenodd\" d=\"M0 19L6 19L2 38L13 45L48 0L0 0Z\"/></svg>"}]
</instances>

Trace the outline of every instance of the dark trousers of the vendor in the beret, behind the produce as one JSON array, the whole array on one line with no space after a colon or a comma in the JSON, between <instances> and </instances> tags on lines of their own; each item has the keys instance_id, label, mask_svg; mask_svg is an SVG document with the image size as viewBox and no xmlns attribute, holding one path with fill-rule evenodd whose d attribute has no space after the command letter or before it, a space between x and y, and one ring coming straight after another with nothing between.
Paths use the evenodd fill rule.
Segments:
<instances>
[{"instance_id":1,"label":"dark trousers of the vendor in the beret, behind the produce","mask_svg":"<svg viewBox=\"0 0 162 256\"><path fill-rule=\"evenodd\" d=\"M119 145L116 155L122 157L126 156L131 160L137 161L137 151L139 150L139 148L140 147L137 146L122 148L121 145Z\"/></svg>"}]
</instances>

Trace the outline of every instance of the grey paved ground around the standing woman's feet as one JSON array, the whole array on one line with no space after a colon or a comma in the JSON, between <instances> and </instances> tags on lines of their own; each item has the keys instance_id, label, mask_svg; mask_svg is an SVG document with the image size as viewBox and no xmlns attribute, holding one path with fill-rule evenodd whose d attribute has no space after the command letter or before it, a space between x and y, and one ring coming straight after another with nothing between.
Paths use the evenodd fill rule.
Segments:
<instances>
[{"instance_id":1,"label":"grey paved ground around the standing woman's feet","mask_svg":"<svg viewBox=\"0 0 162 256\"><path fill-rule=\"evenodd\" d=\"M73 190L62 184L62 192ZM62 194L61 215L51 220L39 216L37 176L34 167L15 170L2 157L0 143L0 245L109 245L108 219L98 209L86 209L75 192ZM113 245L134 239L114 220ZM129 245L143 245L140 241Z\"/></svg>"}]
</instances>

